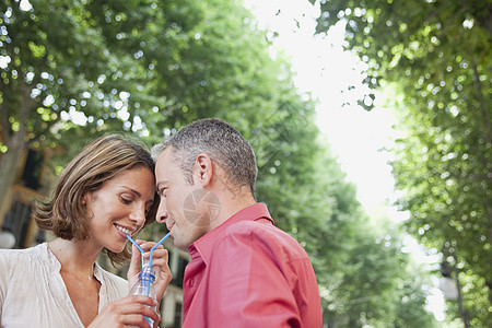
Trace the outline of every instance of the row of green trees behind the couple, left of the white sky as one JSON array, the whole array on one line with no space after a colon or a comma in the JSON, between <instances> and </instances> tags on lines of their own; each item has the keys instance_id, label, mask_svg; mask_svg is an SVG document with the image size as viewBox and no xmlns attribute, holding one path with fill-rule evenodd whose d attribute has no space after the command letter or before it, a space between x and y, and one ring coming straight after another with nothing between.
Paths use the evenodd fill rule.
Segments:
<instances>
[{"instance_id":1,"label":"row of green trees behind the couple, left of the white sky","mask_svg":"<svg viewBox=\"0 0 492 328\"><path fill-rule=\"evenodd\" d=\"M266 32L238 2L0 3L1 178L12 176L16 144L62 148L66 163L101 133L128 132L150 145L195 119L223 118L251 142L258 199L306 248L326 308L347 297L342 291L363 297L358 284L377 278L379 265L387 281L373 294L384 300L397 285L402 267L386 259L395 249L366 234L354 186L318 140L314 101L295 90L285 57L270 57ZM336 315L361 318L370 306L380 314L388 302Z\"/></svg>"}]
</instances>

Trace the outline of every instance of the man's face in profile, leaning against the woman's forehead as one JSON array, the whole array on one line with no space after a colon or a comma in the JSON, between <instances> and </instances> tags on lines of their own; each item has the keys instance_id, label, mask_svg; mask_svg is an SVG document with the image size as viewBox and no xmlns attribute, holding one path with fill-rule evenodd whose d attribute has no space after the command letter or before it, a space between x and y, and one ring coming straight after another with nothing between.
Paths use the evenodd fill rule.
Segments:
<instances>
[{"instance_id":1,"label":"man's face in profile, leaning against the woman's forehead","mask_svg":"<svg viewBox=\"0 0 492 328\"><path fill-rule=\"evenodd\" d=\"M178 163L172 160L172 152L173 149L167 148L155 164L156 188L161 197L156 221L166 224L175 246L186 251L209 231L210 220L200 206L207 190L200 184L186 181Z\"/></svg>"}]
</instances>

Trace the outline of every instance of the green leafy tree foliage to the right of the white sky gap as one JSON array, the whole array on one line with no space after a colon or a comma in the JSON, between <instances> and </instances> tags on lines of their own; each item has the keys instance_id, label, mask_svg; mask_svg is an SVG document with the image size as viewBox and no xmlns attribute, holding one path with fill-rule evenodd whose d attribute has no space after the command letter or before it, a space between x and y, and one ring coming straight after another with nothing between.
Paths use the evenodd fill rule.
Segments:
<instances>
[{"instance_id":1,"label":"green leafy tree foliage to the right of the white sky gap","mask_svg":"<svg viewBox=\"0 0 492 328\"><path fill-rule=\"evenodd\" d=\"M490 1L323 0L320 8L317 32L345 22L347 48L367 65L364 82L398 91L394 105L402 138L393 167L403 191L399 206L411 214L407 227L427 247L456 255L470 324L488 326Z\"/></svg>"}]
</instances>

